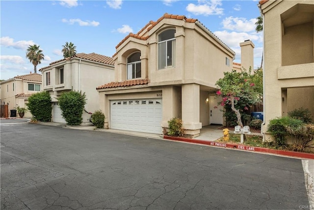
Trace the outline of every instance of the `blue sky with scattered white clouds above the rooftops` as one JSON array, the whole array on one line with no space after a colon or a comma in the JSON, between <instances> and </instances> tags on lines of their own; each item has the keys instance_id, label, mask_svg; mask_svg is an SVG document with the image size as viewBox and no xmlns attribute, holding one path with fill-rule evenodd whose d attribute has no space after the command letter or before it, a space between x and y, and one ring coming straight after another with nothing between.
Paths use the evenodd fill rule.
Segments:
<instances>
[{"instance_id":1,"label":"blue sky with scattered white clouds above the rooftops","mask_svg":"<svg viewBox=\"0 0 314 210\"><path fill-rule=\"evenodd\" d=\"M0 0L0 79L33 72L25 57L33 44L45 56L37 73L63 59L65 42L74 43L78 53L111 57L125 36L164 13L198 19L235 51L234 62L240 62L239 43L251 39L257 68L262 57L257 5L258 0Z\"/></svg>"}]
</instances>

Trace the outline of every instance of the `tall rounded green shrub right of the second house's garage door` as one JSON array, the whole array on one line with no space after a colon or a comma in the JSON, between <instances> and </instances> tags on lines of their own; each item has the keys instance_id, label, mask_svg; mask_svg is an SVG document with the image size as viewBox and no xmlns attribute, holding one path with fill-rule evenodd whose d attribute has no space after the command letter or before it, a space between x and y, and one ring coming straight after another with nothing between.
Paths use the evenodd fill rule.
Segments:
<instances>
[{"instance_id":1,"label":"tall rounded green shrub right of the second house's garage door","mask_svg":"<svg viewBox=\"0 0 314 210\"><path fill-rule=\"evenodd\" d=\"M58 98L59 106L62 111L62 117L68 125L79 125L82 123L83 110L86 104L85 93L71 90L62 92Z\"/></svg>"}]
</instances>

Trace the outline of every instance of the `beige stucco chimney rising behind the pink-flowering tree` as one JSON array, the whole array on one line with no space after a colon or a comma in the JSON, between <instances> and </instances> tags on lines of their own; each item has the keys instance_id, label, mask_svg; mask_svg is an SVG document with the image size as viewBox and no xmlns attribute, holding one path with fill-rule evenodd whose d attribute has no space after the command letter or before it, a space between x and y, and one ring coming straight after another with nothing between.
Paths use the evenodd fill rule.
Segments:
<instances>
[{"instance_id":1,"label":"beige stucco chimney rising behind the pink-flowering tree","mask_svg":"<svg viewBox=\"0 0 314 210\"><path fill-rule=\"evenodd\" d=\"M241 66L249 70L250 66L254 70L254 43L251 40L245 40L240 43L241 47Z\"/></svg>"}]
</instances>

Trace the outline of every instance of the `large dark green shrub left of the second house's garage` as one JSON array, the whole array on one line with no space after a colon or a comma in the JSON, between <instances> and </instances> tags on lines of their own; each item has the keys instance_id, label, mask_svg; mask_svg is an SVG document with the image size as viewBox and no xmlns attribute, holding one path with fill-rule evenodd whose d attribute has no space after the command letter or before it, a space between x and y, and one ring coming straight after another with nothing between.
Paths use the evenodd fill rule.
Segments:
<instances>
[{"instance_id":1,"label":"large dark green shrub left of the second house's garage","mask_svg":"<svg viewBox=\"0 0 314 210\"><path fill-rule=\"evenodd\" d=\"M49 92L42 91L32 94L28 97L26 106L35 120L51 121L52 104Z\"/></svg>"}]
</instances>

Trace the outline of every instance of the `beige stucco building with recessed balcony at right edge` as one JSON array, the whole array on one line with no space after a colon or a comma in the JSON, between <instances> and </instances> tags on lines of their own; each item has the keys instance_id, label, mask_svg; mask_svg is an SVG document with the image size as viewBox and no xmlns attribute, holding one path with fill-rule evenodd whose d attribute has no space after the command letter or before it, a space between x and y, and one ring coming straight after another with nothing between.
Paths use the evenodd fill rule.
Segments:
<instances>
[{"instance_id":1,"label":"beige stucco building with recessed balcony at right edge","mask_svg":"<svg viewBox=\"0 0 314 210\"><path fill-rule=\"evenodd\" d=\"M264 121L297 108L314 116L314 1L261 0ZM266 135L266 140L270 136Z\"/></svg>"}]
</instances>

